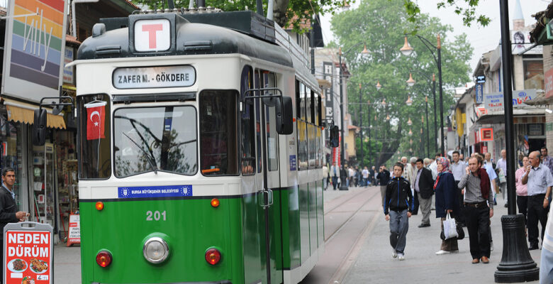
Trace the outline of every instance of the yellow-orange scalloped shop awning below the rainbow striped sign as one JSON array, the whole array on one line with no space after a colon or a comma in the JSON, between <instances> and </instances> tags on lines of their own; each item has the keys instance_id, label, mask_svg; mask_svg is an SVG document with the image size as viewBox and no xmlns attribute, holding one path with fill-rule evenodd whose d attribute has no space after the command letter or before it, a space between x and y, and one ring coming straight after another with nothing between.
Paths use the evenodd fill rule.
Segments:
<instances>
[{"instance_id":1,"label":"yellow-orange scalloped shop awning below the rainbow striped sign","mask_svg":"<svg viewBox=\"0 0 553 284\"><path fill-rule=\"evenodd\" d=\"M23 124L33 124L35 117L34 110L38 109L37 105L19 102L13 99L3 99L8 111L9 120L21 122ZM65 129L63 116L49 113L46 116L46 126L52 129Z\"/></svg>"}]
</instances>

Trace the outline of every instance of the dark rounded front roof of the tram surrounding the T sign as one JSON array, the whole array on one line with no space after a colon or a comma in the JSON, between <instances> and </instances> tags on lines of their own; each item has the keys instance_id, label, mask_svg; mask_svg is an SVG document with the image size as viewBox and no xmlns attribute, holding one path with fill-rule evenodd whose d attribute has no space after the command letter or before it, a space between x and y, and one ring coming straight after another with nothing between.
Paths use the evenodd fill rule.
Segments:
<instances>
[{"instance_id":1,"label":"dark rounded front roof of the tram surrounding the T sign","mask_svg":"<svg viewBox=\"0 0 553 284\"><path fill-rule=\"evenodd\" d=\"M238 53L252 58L293 67L291 55L279 45L253 38L250 35L206 23L191 23L177 13L131 15L128 26L147 19L169 19L174 27L171 48L163 52L138 52L134 48L132 28L106 31L103 23L96 23L93 36L86 38L77 52L78 60L101 58L139 58L168 55L230 54Z\"/></svg>"}]
</instances>

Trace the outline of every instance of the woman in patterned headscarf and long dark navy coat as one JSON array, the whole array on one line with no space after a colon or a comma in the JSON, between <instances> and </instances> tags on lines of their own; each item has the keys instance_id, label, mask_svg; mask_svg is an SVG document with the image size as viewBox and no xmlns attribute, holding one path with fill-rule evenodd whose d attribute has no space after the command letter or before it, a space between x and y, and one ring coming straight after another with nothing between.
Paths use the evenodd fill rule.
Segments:
<instances>
[{"instance_id":1,"label":"woman in patterned headscarf and long dark navy coat","mask_svg":"<svg viewBox=\"0 0 553 284\"><path fill-rule=\"evenodd\" d=\"M442 230L444 229L444 221L447 213L454 218L459 213L459 200L457 196L457 187L455 186L455 179L451 170L449 170L449 160L446 158L439 158L437 163L437 178L434 183L434 190L436 193L436 218L442 220ZM457 238L446 239L442 241L440 251L436 254L445 254L458 252Z\"/></svg>"}]
</instances>

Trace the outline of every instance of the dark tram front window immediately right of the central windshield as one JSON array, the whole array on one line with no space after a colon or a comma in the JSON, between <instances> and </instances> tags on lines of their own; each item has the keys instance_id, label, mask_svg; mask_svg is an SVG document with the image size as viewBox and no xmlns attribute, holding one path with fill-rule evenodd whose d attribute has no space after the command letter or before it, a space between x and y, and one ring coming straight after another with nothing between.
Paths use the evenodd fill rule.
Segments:
<instances>
[{"instance_id":1,"label":"dark tram front window immediately right of the central windshield","mask_svg":"<svg viewBox=\"0 0 553 284\"><path fill-rule=\"evenodd\" d=\"M203 175L238 175L238 93L200 94L200 153Z\"/></svg>"}]
</instances>

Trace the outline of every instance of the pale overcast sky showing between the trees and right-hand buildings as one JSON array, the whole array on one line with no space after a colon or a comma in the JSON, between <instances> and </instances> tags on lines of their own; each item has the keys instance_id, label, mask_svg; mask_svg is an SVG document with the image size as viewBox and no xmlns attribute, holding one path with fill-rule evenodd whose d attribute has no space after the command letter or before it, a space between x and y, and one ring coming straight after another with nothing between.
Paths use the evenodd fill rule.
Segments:
<instances>
[{"instance_id":1,"label":"pale overcast sky showing between the trees and right-hand buildings","mask_svg":"<svg viewBox=\"0 0 553 284\"><path fill-rule=\"evenodd\" d=\"M357 8L359 0L352 5L352 9ZM470 62L471 70L474 70L476 63L480 59L483 53L489 50L496 49L499 40L501 38L500 31L500 17L499 17L499 0L480 0L478 11L484 11L484 14L491 18L491 23L485 28L476 25L474 23L470 28L463 25L462 16L458 16L454 13L454 9L440 9L436 8L437 0L420 0L418 4L422 13L429 13L430 16L438 17L442 20L442 23L448 24L453 27L453 34L467 33L468 40L474 48L474 54ZM464 1L459 1L464 2ZM516 0L509 0L509 21L512 27L512 19L514 16ZM546 0L520 0L522 4L523 16L525 18L525 25L535 23L535 18L532 18L532 14L537 11L543 11L547 8L547 5L551 1ZM334 35L330 31L330 19L331 15L325 15L321 17L321 25L323 27L323 38L325 43L333 40Z\"/></svg>"}]
</instances>

